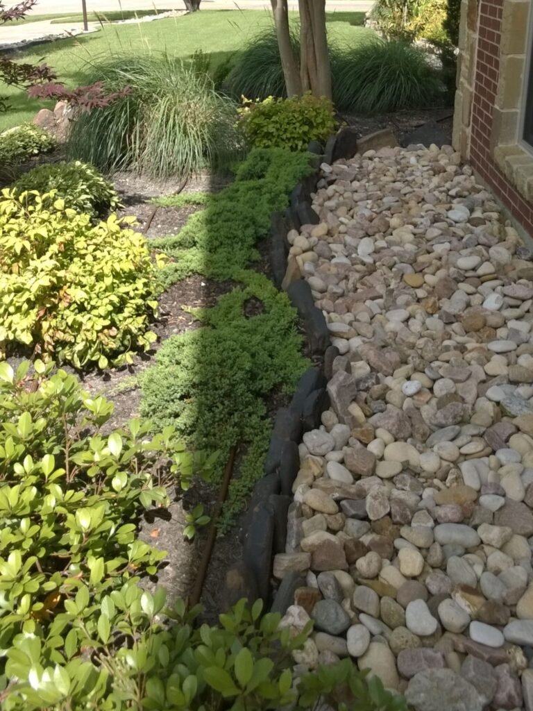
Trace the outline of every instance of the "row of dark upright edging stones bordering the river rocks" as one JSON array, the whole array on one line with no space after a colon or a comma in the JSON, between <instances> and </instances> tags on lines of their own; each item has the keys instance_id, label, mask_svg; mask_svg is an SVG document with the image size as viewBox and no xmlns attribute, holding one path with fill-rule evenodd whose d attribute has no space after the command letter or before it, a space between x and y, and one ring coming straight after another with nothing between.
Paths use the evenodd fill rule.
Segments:
<instances>
[{"instance_id":1,"label":"row of dark upright edging stones bordering the river rocks","mask_svg":"<svg viewBox=\"0 0 533 711\"><path fill-rule=\"evenodd\" d=\"M371 147L366 143L374 141L379 146L382 141L390 141L390 132L377 132L362 140L366 150ZM301 376L289 407L281 407L277 412L264 476L254 486L244 520L242 560L227 572L225 599L228 607L242 597L247 597L249 602L260 598L265 607L271 604L272 562L276 553L285 552L287 512L293 500L292 485L300 464L298 444L303 432L320 425L322 412L330 405L325 386L333 372L333 361L339 355L338 349L330 344L328 326L322 311L315 306L309 284L301 278L286 282L286 274L291 268L287 234L301 225L318 224L311 193L321 178L321 164L352 158L357 150L357 134L353 127L340 129L328 139L325 149L317 141L311 141L308 151L316 156L312 159L315 172L294 188L289 208L284 213L275 212L271 217L269 255L274 284L278 289L286 287L289 299L298 311L308 349L323 365L309 368ZM279 583L271 609L284 614L294 602L294 591L304 584L305 580L297 572L286 575Z\"/></svg>"}]
</instances>

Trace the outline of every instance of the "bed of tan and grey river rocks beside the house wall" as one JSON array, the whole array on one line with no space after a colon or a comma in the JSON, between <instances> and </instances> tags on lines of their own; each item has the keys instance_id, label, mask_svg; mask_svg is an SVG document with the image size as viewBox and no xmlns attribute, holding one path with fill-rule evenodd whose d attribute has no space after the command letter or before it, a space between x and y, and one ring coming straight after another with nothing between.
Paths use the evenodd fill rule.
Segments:
<instances>
[{"instance_id":1,"label":"bed of tan and grey river rocks beside the house wall","mask_svg":"<svg viewBox=\"0 0 533 711\"><path fill-rule=\"evenodd\" d=\"M340 355L303 435L283 623L416 711L533 710L533 263L450 146L323 164L289 233Z\"/></svg>"}]
</instances>

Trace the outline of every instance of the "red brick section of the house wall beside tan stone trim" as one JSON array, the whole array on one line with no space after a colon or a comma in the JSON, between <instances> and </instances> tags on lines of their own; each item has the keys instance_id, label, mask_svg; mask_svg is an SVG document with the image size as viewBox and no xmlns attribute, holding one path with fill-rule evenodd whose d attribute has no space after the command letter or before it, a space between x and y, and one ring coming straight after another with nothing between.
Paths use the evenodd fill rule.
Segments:
<instances>
[{"instance_id":1,"label":"red brick section of the house wall beside tan stone trim","mask_svg":"<svg viewBox=\"0 0 533 711\"><path fill-rule=\"evenodd\" d=\"M470 0L468 5L470 5ZM505 114L497 108L498 85L500 82L500 63L502 62L502 14L505 0L480 0L475 9L478 12L477 51L474 47L465 46L470 53L468 60L473 63L471 67L473 81L471 97L471 113L469 123L468 148L461 145L461 151L467 154L470 163L488 186L500 198L502 203L510 210L512 215L522 224L524 229L533 236L533 205L524 200L512 186L508 176L505 176L495 164L494 149L497 141L495 134L502 135L505 126ZM472 9L470 6L470 14ZM473 18L469 18L472 23ZM465 18L463 18L463 22ZM464 60L464 58L463 58ZM469 102L470 104L470 102ZM470 105L468 106L470 112ZM465 110L463 109L463 124L465 124ZM503 117L503 118L502 118ZM458 121L456 112L456 122ZM468 125L468 124L467 124ZM511 141L503 141L510 143Z\"/></svg>"}]
</instances>

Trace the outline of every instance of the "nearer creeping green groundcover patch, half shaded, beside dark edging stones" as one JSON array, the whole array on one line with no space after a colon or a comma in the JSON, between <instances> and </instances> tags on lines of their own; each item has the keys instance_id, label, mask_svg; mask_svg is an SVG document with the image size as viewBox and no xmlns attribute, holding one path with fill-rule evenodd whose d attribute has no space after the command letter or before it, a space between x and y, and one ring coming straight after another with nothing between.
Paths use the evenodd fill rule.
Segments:
<instances>
[{"instance_id":1,"label":"nearer creeping green groundcover patch, half shaded, beside dark edging stones","mask_svg":"<svg viewBox=\"0 0 533 711\"><path fill-rule=\"evenodd\" d=\"M308 363L301 355L295 311L266 277L242 270L242 287L212 309L195 310L204 328L168 338L156 365L141 378L141 412L156 427L172 424L193 448L222 454L215 481L232 445L244 452L220 520L230 528L262 475L270 436L266 397L292 392ZM249 301L260 312L247 316Z\"/></svg>"}]
</instances>

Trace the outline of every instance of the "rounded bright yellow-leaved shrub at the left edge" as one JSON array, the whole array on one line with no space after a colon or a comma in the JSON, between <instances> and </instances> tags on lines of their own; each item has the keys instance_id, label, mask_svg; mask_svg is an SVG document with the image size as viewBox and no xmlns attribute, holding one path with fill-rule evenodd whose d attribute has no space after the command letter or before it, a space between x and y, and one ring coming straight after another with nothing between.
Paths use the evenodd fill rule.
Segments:
<instances>
[{"instance_id":1,"label":"rounded bright yellow-leaved shrub at the left edge","mask_svg":"<svg viewBox=\"0 0 533 711\"><path fill-rule=\"evenodd\" d=\"M16 344L81 368L148 350L157 272L146 242L111 215L65 208L53 191L0 200L0 353Z\"/></svg>"}]
</instances>

